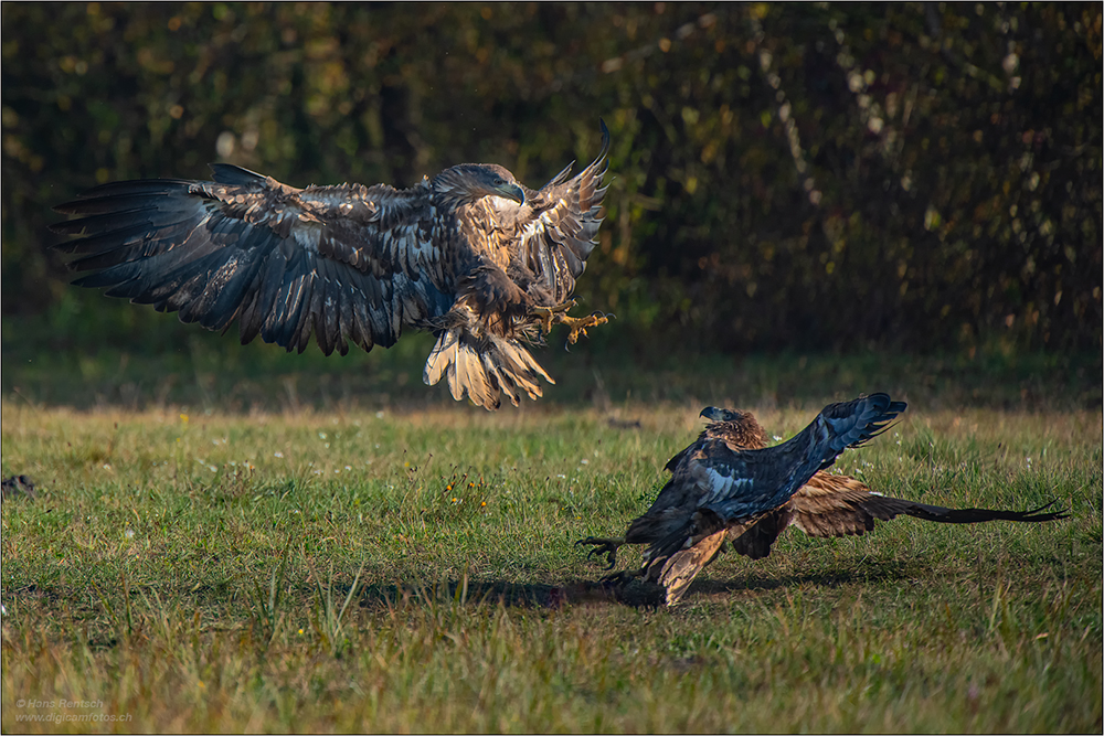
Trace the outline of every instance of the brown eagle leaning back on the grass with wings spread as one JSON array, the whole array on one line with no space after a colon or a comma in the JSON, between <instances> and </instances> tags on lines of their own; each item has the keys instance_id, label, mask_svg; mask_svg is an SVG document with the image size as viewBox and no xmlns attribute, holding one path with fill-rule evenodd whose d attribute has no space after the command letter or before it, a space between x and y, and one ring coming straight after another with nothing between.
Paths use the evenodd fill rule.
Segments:
<instances>
[{"instance_id":1,"label":"brown eagle leaning back on the grass with wings spread","mask_svg":"<svg viewBox=\"0 0 1104 736\"><path fill-rule=\"evenodd\" d=\"M873 531L875 520L890 521L901 514L944 524L976 524L996 520L1044 522L1066 518L1061 511L1041 513L1053 505L1053 501L1031 511L1004 511L947 509L894 499L870 490L866 483L849 476L826 472L830 461L802 481L804 484L796 492L785 498L782 498L784 493L775 493L764 502L752 503L756 493L754 487L746 482L741 486L743 479L733 478L728 497L736 497L745 504L739 506L740 513L718 514L720 518L716 520L709 513L702 513L702 509L715 509L720 498L728 498L719 497L716 489L726 474L731 476L729 468L733 465L734 456L746 455L749 450L779 450L805 437L821 417L848 415L854 410L856 405L869 401L877 401L881 405L887 404L889 397L885 394L874 394L847 404L829 405L802 434L767 450L763 449L766 448L766 433L750 412L705 407L700 415L709 420L705 429L697 441L667 462L666 470L672 473L671 480L660 491L651 508L631 522L625 536L587 537L576 544L595 545L591 555L606 554L607 569L616 563L616 552L620 545L650 545L638 573L615 574L608 579L617 582L644 576L646 579L658 580L667 588L667 602L673 604L682 596L693 577L716 558L725 540L737 553L752 559L762 559L771 554L771 545L789 526L796 526L809 536L830 537L862 535ZM903 402L888 403L881 415L888 418L874 419L870 425L872 430L868 430L863 439L850 446L861 445L883 431L891 415L903 412L904 408ZM774 503L778 499L782 499L781 502ZM683 548L677 546L679 540L683 540ZM672 553L672 550L676 552Z\"/></svg>"}]
</instances>

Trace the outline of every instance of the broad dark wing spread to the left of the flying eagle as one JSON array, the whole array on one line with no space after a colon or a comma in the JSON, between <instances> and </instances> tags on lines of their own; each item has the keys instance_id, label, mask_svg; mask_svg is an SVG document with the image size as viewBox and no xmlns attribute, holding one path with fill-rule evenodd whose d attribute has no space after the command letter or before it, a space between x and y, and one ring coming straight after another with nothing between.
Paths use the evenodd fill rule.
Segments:
<instances>
[{"instance_id":1,"label":"broad dark wing spread to the left of the flying eagle","mask_svg":"<svg viewBox=\"0 0 1104 736\"><path fill-rule=\"evenodd\" d=\"M84 235L60 249L75 281L179 311L183 322L258 334L327 355L390 346L403 326L453 303L449 254L434 241L428 190L359 184L295 189L240 167L214 181L155 179L97 186L56 210Z\"/></svg>"}]
</instances>

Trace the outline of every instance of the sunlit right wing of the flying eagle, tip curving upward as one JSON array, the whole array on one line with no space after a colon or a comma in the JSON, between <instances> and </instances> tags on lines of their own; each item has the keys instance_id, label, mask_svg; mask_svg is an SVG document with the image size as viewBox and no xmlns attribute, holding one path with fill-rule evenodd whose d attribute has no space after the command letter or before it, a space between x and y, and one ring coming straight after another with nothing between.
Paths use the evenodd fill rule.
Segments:
<instances>
[{"instance_id":1,"label":"sunlit right wing of the flying eagle, tip curving upward","mask_svg":"<svg viewBox=\"0 0 1104 736\"><path fill-rule=\"evenodd\" d=\"M602 199L606 193L602 177L608 152L609 130L603 121L602 151L591 166L570 180L569 166L539 191L526 192L526 206L531 214L518 223L520 255L554 303L571 297L575 279L582 276L586 258L594 249L602 224Z\"/></svg>"}]
</instances>

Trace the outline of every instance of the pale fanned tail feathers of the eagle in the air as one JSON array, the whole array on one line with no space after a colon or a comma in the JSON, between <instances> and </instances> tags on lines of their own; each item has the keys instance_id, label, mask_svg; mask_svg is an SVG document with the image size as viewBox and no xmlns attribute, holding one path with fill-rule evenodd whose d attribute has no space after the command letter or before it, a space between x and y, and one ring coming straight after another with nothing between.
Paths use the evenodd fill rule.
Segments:
<instances>
[{"instance_id":1,"label":"pale fanned tail feathers of the eagle in the air","mask_svg":"<svg viewBox=\"0 0 1104 736\"><path fill-rule=\"evenodd\" d=\"M535 401L543 395L540 380L554 384L544 369L517 340L499 335L479 338L464 327L445 330L425 363L423 381L434 385L445 377L453 398L467 394L485 409L497 409L505 393L514 406L522 393Z\"/></svg>"}]
</instances>

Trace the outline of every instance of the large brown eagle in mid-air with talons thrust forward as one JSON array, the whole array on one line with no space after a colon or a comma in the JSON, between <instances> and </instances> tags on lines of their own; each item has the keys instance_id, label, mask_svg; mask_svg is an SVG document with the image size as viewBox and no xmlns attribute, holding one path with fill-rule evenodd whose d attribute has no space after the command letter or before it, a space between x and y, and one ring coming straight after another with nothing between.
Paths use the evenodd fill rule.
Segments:
<instances>
[{"instance_id":1,"label":"large brown eagle in mid-air with talons thrust forward","mask_svg":"<svg viewBox=\"0 0 1104 736\"><path fill-rule=\"evenodd\" d=\"M261 337L300 353L311 332L327 355L349 342L390 348L404 327L437 338L423 378L448 380L496 409L505 393L542 395L554 383L522 343L566 324L574 343L606 321L566 312L595 245L606 189L602 151L540 190L490 163L461 163L411 189L386 184L295 189L215 163L213 181L151 179L97 186L55 210L53 225L83 235L57 247L94 271L75 284L182 322Z\"/></svg>"}]
</instances>

